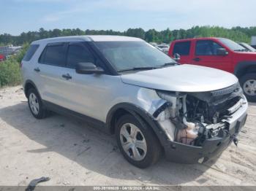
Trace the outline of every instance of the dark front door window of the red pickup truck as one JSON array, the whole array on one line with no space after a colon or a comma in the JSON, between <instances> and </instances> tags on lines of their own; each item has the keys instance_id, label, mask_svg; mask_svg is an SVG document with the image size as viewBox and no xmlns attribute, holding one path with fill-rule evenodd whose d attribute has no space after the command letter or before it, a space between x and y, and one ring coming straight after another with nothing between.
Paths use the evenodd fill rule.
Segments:
<instances>
[{"instance_id":1,"label":"dark front door window of the red pickup truck","mask_svg":"<svg viewBox=\"0 0 256 191\"><path fill-rule=\"evenodd\" d=\"M217 55L217 50L223 48L219 44L211 40L197 41L195 47L195 55Z\"/></svg>"}]
</instances>

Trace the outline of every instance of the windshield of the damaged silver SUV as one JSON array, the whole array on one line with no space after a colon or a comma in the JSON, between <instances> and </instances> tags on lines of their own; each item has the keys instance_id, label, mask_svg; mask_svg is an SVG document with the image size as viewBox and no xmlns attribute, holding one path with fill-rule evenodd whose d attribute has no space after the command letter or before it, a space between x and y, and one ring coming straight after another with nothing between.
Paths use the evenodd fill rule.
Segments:
<instances>
[{"instance_id":1,"label":"windshield of the damaged silver SUV","mask_svg":"<svg viewBox=\"0 0 256 191\"><path fill-rule=\"evenodd\" d=\"M99 50L116 68L116 71L156 69L176 63L150 44L140 42L95 42Z\"/></svg>"}]
</instances>

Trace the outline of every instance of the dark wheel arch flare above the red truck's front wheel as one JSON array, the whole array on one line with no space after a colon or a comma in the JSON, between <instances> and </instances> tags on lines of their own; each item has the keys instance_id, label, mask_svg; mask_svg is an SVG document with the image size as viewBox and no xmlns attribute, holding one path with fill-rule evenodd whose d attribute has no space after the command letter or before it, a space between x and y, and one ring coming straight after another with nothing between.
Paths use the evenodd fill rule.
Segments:
<instances>
[{"instance_id":1,"label":"dark wheel arch flare above the red truck's front wheel","mask_svg":"<svg viewBox=\"0 0 256 191\"><path fill-rule=\"evenodd\" d=\"M240 78L244 74L255 73L256 72L256 61L242 61L236 65L234 74L236 77Z\"/></svg>"}]
</instances>

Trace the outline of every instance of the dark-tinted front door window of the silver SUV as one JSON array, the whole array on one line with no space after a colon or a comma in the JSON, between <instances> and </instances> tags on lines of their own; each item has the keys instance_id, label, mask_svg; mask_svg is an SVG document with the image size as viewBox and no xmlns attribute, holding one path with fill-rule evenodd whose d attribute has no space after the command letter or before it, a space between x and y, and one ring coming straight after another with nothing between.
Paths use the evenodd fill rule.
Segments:
<instances>
[{"instance_id":1,"label":"dark-tinted front door window of the silver SUV","mask_svg":"<svg viewBox=\"0 0 256 191\"><path fill-rule=\"evenodd\" d=\"M67 67L75 68L77 63L94 63L94 57L83 44L69 44L67 52Z\"/></svg>"}]
</instances>

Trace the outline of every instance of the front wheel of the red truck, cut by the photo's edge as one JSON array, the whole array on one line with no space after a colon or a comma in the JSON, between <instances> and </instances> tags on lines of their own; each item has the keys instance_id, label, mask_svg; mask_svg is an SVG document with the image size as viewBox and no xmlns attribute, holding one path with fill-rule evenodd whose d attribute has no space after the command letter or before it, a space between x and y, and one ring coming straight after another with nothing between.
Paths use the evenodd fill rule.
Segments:
<instances>
[{"instance_id":1,"label":"front wheel of the red truck, cut by the photo's edge","mask_svg":"<svg viewBox=\"0 0 256 191\"><path fill-rule=\"evenodd\" d=\"M245 74L239 79L248 101L256 101L256 73Z\"/></svg>"}]
</instances>

